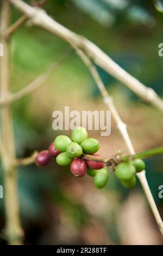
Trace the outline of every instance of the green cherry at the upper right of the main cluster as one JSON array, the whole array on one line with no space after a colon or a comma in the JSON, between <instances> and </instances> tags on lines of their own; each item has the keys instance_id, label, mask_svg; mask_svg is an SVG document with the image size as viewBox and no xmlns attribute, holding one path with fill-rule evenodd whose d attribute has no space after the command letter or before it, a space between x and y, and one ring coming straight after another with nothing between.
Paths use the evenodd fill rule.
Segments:
<instances>
[{"instance_id":1,"label":"green cherry at the upper right of the main cluster","mask_svg":"<svg viewBox=\"0 0 163 256\"><path fill-rule=\"evenodd\" d=\"M83 148L85 154L93 154L99 150L100 144L99 141L93 138L84 140L80 146Z\"/></svg>"}]
</instances>

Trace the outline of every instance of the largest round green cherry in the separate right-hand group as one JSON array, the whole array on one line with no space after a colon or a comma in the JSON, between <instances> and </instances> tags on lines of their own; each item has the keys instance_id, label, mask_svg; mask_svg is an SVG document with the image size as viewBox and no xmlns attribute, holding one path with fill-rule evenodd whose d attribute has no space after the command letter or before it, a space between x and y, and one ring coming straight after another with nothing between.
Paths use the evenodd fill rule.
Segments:
<instances>
[{"instance_id":1,"label":"largest round green cherry in the separate right-hand group","mask_svg":"<svg viewBox=\"0 0 163 256\"><path fill-rule=\"evenodd\" d=\"M119 180L130 180L136 173L135 166L130 163L118 164L115 169L115 175Z\"/></svg>"}]
</instances>

